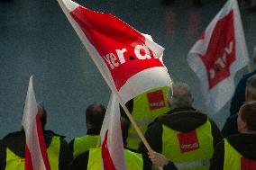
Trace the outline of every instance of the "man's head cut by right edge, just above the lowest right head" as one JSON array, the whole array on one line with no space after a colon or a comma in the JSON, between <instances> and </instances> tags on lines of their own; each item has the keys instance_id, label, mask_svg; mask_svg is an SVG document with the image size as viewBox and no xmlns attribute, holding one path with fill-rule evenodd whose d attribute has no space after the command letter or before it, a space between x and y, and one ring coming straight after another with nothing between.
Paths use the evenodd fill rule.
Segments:
<instances>
[{"instance_id":1,"label":"man's head cut by right edge, just above the lowest right head","mask_svg":"<svg viewBox=\"0 0 256 170\"><path fill-rule=\"evenodd\" d=\"M245 101L256 100L256 75L251 76L246 83Z\"/></svg>"}]
</instances>

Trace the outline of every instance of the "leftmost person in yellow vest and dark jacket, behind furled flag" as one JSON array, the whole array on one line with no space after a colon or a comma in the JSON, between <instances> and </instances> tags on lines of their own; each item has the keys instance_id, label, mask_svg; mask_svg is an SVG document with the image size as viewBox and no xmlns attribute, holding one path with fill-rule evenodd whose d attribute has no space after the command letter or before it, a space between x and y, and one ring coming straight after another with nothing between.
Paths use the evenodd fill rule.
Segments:
<instances>
[{"instance_id":1,"label":"leftmost person in yellow vest and dark jacket, behind furled flag","mask_svg":"<svg viewBox=\"0 0 256 170\"><path fill-rule=\"evenodd\" d=\"M44 130L47 112L43 105L38 104L41 119L41 129L47 147L47 154L51 170L69 170L72 155L69 145L51 130ZM0 170L24 170L25 161L25 133L23 130L9 133L0 144Z\"/></svg>"}]
</instances>

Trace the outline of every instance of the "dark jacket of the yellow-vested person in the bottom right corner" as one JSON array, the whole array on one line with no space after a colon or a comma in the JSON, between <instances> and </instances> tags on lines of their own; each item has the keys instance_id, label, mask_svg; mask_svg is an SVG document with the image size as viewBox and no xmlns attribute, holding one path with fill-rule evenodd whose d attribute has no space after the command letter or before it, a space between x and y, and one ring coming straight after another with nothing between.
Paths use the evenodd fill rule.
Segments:
<instances>
[{"instance_id":1,"label":"dark jacket of the yellow-vested person in the bottom right corner","mask_svg":"<svg viewBox=\"0 0 256 170\"><path fill-rule=\"evenodd\" d=\"M256 135L237 134L227 138L228 142L243 157L256 161ZM215 153L211 161L210 170L222 170L224 168L224 140L215 148Z\"/></svg>"}]
</instances>

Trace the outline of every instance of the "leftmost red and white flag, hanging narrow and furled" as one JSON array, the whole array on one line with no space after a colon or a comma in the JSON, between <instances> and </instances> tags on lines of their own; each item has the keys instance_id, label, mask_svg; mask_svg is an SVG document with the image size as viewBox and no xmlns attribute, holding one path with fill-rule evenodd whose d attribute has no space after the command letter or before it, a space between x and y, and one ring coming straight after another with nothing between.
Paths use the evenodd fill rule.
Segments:
<instances>
[{"instance_id":1,"label":"leftmost red and white flag, hanging narrow and furled","mask_svg":"<svg viewBox=\"0 0 256 170\"><path fill-rule=\"evenodd\" d=\"M25 170L50 170L46 145L41 130L39 112L32 87L31 76L22 123L26 136Z\"/></svg>"}]
</instances>

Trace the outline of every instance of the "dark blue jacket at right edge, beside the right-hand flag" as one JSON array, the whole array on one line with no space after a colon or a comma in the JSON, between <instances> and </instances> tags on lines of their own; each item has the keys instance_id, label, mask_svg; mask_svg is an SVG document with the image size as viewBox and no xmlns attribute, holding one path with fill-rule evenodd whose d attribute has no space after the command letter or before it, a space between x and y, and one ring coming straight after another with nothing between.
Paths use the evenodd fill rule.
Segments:
<instances>
[{"instance_id":1,"label":"dark blue jacket at right edge, beside the right-hand flag","mask_svg":"<svg viewBox=\"0 0 256 170\"><path fill-rule=\"evenodd\" d=\"M236 114L240 107L242 106L242 103L245 101L245 87L247 80L250 76L256 74L256 69L252 71L249 74L246 74L242 76L242 79L239 81L238 85L235 88L231 104L230 104L230 115Z\"/></svg>"}]
</instances>

